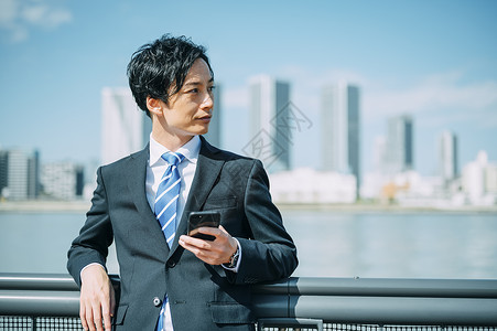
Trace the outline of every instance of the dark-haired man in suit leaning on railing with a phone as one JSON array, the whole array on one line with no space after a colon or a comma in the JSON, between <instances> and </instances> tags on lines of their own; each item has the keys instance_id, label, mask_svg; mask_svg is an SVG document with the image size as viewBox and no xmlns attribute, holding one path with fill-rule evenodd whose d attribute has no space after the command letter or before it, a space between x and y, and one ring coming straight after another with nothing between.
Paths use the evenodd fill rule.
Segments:
<instances>
[{"instance_id":1,"label":"dark-haired man in suit leaning on railing with a phone","mask_svg":"<svg viewBox=\"0 0 497 331\"><path fill-rule=\"evenodd\" d=\"M68 252L82 324L253 330L250 285L289 277L298 265L262 164L202 137L214 106L214 75L202 46L164 35L133 54L128 76L152 132L142 151L97 171L91 209ZM198 211L220 213L218 228L199 228L214 241L186 235L188 215ZM112 241L121 279L117 305L105 269Z\"/></svg>"}]
</instances>

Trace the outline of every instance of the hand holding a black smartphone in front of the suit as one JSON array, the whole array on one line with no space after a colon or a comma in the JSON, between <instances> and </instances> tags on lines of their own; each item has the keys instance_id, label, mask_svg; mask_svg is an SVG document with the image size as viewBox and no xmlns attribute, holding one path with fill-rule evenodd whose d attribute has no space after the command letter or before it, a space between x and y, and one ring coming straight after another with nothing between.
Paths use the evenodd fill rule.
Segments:
<instances>
[{"instance_id":1,"label":"hand holding a black smartphone in front of the suit","mask_svg":"<svg viewBox=\"0 0 497 331\"><path fill-rule=\"evenodd\" d=\"M180 245L209 265L230 261L237 241L219 225L218 212L194 212L188 217L188 235L180 237Z\"/></svg>"}]
</instances>

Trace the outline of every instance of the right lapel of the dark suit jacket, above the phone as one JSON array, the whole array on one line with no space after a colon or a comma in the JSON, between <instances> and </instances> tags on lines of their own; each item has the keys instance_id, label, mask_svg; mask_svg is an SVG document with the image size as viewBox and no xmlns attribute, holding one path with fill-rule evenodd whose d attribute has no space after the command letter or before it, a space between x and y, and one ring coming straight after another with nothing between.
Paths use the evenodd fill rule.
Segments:
<instances>
[{"instance_id":1,"label":"right lapel of the dark suit jacket, above the phone","mask_svg":"<svg viewBox=\"0 0 497 331\"><path fill-rule=\"evenodd\" d=\"M190 212L199 211L204 205L205 200L207 199L212 188L215 185L219 172L225 163L224 159L216 158L216 154L219 151L205 141L202 136L201 141L202 147L198 153L195 177L192 182L192 188L190 189L183 215L176 229L176 236L174 237L170 256L172 256L177 248L177 241L180 236L186 234Z\"/></svg>"}]
</instances>

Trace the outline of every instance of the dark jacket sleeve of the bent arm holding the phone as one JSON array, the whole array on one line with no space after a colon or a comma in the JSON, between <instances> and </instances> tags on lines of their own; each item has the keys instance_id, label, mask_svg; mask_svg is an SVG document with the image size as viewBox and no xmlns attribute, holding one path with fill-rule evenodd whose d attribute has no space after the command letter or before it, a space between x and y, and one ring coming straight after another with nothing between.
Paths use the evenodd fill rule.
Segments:
<instances>
[{"instance_id":1,"label":"dark jacket sleeve of the bent arm holding the phone","mask_svg":"<svg viewBox=\"0 0 497 331\"><path fill-rule=\"evenodd\" d=\"M290 277L298 266L296 247L272 203L269 179L259 160L248 177L245 214L252 238L237 238L242 252L240 267L228 278L235 284L255 284Z\"/></svg>"}]
</instances>

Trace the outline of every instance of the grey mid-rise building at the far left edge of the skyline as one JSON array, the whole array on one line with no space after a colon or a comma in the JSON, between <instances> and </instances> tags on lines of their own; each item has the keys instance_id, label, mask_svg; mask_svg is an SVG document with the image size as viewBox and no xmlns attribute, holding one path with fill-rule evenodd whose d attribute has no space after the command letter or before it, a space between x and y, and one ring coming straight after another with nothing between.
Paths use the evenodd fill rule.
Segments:
<instances>
[{"instance_id":1,"label":"grey mid-rise building at the far left edge of the skyline","mask_svg":"<svg viewBox=\"0 0 497 331\"><path fill-rule=\"evenodd\" d=\"M40 156L20 149L0 153L0 193L9 200L35 199L40 191Z\"/></svg>"}]
</instances>

